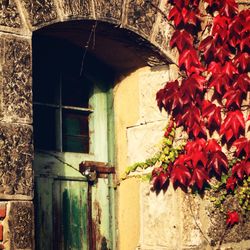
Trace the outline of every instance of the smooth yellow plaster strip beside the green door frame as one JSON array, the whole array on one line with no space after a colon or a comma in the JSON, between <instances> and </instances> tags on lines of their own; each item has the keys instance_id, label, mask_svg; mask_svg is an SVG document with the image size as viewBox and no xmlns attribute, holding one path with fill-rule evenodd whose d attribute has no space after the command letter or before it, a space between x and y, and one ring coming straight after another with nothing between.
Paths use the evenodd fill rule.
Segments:
<instances>
[{"instance_id":1,"label":"smooth yellow plaster strip beside the green door frame","mask_svg":"<svg viewBox=\"0 0 250 250\"><path fill-rule=\"evenodd\" d=\"M115 137L118 178L128 166L126 128L139 119L139 74L148 68L139 69L120 77L114 88ZM117 248L134 250L139 243L139 181L128 179L117 188Z\"/></svg>"}]
</instances>

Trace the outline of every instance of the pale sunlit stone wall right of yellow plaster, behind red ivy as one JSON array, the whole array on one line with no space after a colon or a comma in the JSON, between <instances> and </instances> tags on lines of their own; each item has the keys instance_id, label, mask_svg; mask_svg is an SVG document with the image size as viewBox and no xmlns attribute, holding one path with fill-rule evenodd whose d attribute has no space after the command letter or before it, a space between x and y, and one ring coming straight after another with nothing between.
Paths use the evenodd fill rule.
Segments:
<instances>
[{"instance_id":1,"label":"pale sunlit stone wall right of yellow plaster, behind red ivy","mask_svg":"<svg viewBox=\"0 0 250 250\"><path fill-rule=\"evenodd\" d=\"M144 161L157 151L167 115L157 108L155 94L176 79L175 66L153 67L139 76L139 118L127 127L128 164ZM177 136L182 136L181 134ZM147 171L146 171L147 172ZM143 174L145 172L135 173ZM125 180L126 182L126 180ZM235 209L233 200L228 210ZM217 209L218 210L218 209ZM148 182L140 187L140 241L138 250L250 249L250 221L241 220L225 233L225 217L214 209L209 196L186 195L170 185L166 192L151 191ZM246 215L247 218L248 215ZM225 235L224 235L225 233Z\"/></svg>"}]
</instances>

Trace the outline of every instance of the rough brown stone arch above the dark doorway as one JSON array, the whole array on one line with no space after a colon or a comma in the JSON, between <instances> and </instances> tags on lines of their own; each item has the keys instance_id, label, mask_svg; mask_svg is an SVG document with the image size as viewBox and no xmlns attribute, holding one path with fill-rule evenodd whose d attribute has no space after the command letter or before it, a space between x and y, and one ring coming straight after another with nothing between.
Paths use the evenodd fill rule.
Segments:
<instances>
[{"instance_id":1,"label":"rough brown stone arch above the dark doorway","mask_svg":"<svg viewBox=\"0 0 250 250\"><path fill-rule=\"evenodd\" d=\"M0 29L30 36L53 23L96 20L136 34L158 54L156 61L171 62L168 39L170 26L162 14L166 0L24 0L2 1Z\"/></svg>"}]
</instances>

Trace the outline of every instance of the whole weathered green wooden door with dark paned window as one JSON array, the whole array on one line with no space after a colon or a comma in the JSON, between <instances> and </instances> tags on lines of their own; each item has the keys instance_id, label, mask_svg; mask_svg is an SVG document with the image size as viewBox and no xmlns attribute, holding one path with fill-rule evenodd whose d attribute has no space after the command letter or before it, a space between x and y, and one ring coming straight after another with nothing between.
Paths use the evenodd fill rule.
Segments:
<instances>
[{"instance_id":1,"label":"whole weathered green wooden door with dark paned window","mask_svg":"<svg viewBox=\"0 0 250 250\"><path fill-rule=\"evenodd\" d=\"M65 40L33 41L37 250L114 249L112 176L91 185L82 161L112 163L112 80Z\"/></svg>"}]
</instances>

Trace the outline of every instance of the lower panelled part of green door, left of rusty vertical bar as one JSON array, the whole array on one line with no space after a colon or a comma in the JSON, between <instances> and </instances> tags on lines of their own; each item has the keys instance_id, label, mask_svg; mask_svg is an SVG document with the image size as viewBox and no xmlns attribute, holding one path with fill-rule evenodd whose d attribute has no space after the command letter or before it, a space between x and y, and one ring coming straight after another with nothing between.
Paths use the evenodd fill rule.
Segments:
<instances>
[{"instance_id":1,"label":"lower panelled part of green door, left of rusty vertical bar","mask_svg":"<svg viewBox=\"0 0 250 250\"><path fill-rule=\"evenodd\" d=\"M36 249L88 249L88 183L37 178Z\"/></svg>"}]
</instances>

